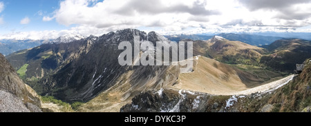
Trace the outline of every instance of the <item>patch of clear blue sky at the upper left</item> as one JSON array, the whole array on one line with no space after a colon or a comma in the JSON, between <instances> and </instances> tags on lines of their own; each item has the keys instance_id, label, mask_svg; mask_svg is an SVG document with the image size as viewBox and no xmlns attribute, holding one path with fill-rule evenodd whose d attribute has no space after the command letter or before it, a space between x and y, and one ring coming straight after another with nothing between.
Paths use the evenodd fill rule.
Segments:
<instances>
[{"instance_id":1,"label":"patch of clear blue sky at the upper left","mask_svg":"<svg viewBox=\"0 0 311 126\"><path fill-rule=\"evenodd\" d=\"M59 1L55 0L4 0L4 9L0 13L3 18L0 34L8 32L26 32L30 30L63 30L68 27L55 21L42 21L46 14L53 13L59 8ZM21 24L21 19L28 17L28 24Z\"/></svg>"}]
</instances>

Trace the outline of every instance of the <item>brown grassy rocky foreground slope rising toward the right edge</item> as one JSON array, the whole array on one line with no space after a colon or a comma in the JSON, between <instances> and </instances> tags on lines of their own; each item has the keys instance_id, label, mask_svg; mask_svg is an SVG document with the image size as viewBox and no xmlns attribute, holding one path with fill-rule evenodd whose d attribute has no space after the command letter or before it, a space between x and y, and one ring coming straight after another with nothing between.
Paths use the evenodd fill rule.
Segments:
<instances>
[{"instance_id":1,"label":"brown grassy rocky foreground slope rising toward the right edge","mask_svg":"<svg viewBox=\"0 0 311 126\"><path fill-rule=\"evenodd\" d=\"M265 105L272 108L267 112L301 112L311 106L311 59L306 62L303 72L290 83L271 94L240 98L235 107L240 112L260 112ZM260 97L260 98L259 98Z\"/></svg>"}]
</instances>

